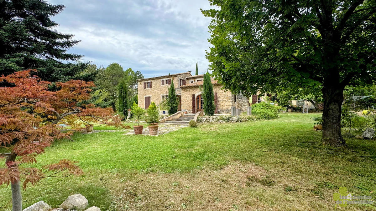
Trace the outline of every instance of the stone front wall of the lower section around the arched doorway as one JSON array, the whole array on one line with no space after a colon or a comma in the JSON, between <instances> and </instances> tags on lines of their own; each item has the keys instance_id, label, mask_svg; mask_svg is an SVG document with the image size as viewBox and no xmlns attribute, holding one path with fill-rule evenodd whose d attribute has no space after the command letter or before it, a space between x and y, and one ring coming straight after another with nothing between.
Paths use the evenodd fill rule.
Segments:
<instances>
[{"instance_id":1,"label":"stone front wall of the lower section around the arched doorway","mask_svg":"<svg viewBox=\"0 0 376 211\"><path fill-rule=\"evenodd\" d=\"M218 114L231 112L232 94L230 91L221 89L221 84L213 84L214 92L217 92ZM182 111L192 113L192 95L195 97L201 94L199 86L188 86L182 88Z\"/></svg>"}]
</instances>

